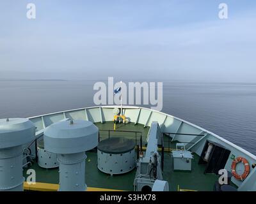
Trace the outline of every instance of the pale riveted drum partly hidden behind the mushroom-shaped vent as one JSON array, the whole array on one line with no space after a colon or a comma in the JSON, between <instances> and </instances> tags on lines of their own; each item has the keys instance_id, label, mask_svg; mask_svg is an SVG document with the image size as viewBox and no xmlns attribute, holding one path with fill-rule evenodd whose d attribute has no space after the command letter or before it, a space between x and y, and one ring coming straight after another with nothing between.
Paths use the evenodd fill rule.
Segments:
<instances>
[{"instance_id":1,"label":"pale riveted drum partly hidden behind the mushroom-shaped vent","mask_svg":"<svg viewBox=\"0 0 256 204\"><path fill-rule=\"evenodd\" d=\"M57 154L44 149L44 140L37 143L38 165L42 168L56 168L59 166Z\"/></svg>"}]
</instances>

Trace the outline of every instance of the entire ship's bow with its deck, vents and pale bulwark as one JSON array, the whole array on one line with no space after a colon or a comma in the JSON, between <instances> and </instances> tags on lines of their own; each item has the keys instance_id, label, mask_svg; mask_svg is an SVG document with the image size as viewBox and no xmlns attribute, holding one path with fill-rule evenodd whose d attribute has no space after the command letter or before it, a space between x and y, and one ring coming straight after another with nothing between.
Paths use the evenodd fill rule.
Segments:
<instances>
[{"instance_id":1,"label":"entire ship's bow with its deck, vents and pale bulwark","mask_svg":"<svg viewBox=\"0 0 256 204\"><path fill-rule=\"evenodd\" d=\"M86 182L94 188L125 191L131 191L133 187L134 191L168 191L169 188L170 191L230 191L234 190L230 186L232 184L237 191L255 191L256 157L253 154L185 120L147 108L126 106L124 112L129 123L118 125L110 138L108 135L109 140L115 136L132 136L139 150L137 159L134 158L134 143L131 142L131 147L127 140L109 143L104 134L102 138L106 141L102 140L102 144L106 142L106 147L111 147L112 151L115 149L115 152L109 152L106 147L100 150L99 130L104 132L113 128L113 109L116 108L99 106L29 119L0 119L0 191L22 191L24 179L29 180L28 170L31 169L36 171L33 189L45 191L60 187L59 191L84 191L85 165L88 170ZM135 135L131 135L133 133ZM136 133L141 135L136 136ZM141 136L141 148L138 147L138 136ZM124 146L116 150L120 147L117 144ZM142 147L144 144L145 149ZM163 144L168 144L168 152L171 154L164 153L163 148L161 153L157 151L159 145L163 147ZM175 145L176 150L173 150ZM178 148L180 145L184 147L181 150ZM97 146L100 157L97 157L95 151ZM85 151L88 151L88 159ZM117 154L114 156L114 153ZM111 160L105 163L104 158L109 157ZM98 171L99 159L103 163L98 168L106 168L107 172L104 172L113 174L113 177ZM60 172L53 168L52 162L56 163L54 165L60 164ZM136 164L136 172L132 171L133 162ZM168 165L164 176L163 164ZM246 170L245 167L250 168ZM229 176L228 184L220 186L220 178L216 173L223 169L232 169L232 175ZM189 173L180 170L189 170ZM241 174L241 178L234 177L237 174ZM51 188L42 188L45 184ZM213 189L215 184L218 184L218 188ZM29 185L24 182L24 189L30 191Z\"/></svg>"}]
</instances>

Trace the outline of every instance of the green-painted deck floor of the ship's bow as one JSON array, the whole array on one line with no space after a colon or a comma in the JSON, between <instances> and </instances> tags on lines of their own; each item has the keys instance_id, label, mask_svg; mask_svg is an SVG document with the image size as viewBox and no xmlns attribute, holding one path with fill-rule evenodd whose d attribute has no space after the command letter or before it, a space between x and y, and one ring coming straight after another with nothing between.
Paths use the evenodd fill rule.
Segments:
<instances>
[{"instance_id":1,"label":"green-painted deck floor of the ship's bow","mask_svg":"<svg viewBox=\"0 0 256 204\"><path fill-rule=\"evenodd\" d=\"M143 146L145 146L147 134L149 128L144 128L141 124L134 125L118 124L116 131L113 130L113 122L95 123L100 130L100 140L104 140L109 136L124 136L126 138L132 138L136 140L136 143L140 143L142 136ZM138 133L122 132L122 131L136 131ZM168 137L164 137L164 145L168 147ZM170 143L170 149L175 148L175 143ZM86 184L88 187L97 187L104 189L115 189L124 191L133 191L133 181L136 173L136 169L129 173L122 175L108 175L102 173L97 168L97 152L86 152ZM198 165L199 156L194 155L192 160L192 171L173 171L172 157L170 152L164 152L164 170L163 179L169 182L170 191L177 191L180 189L189 189L194 191L212 191L214 182L218 179L217 175L204 174L205 166ZM58 168L45 169L38 166L37 163L33 163L29 166L36 171L36 182L58 184ZM26 169L24 170L24 177L26 175Z\"/></svg>"}]
</instances>

